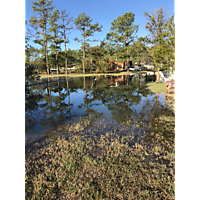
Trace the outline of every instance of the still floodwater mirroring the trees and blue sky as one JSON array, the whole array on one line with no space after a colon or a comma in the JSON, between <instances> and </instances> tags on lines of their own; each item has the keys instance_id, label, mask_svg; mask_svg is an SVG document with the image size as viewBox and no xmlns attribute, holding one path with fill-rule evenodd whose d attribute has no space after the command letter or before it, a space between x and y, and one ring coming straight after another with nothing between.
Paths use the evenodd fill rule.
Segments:
<instances>
[{"instance_id":1,"label":"still floodwater mirroring the trees and blue sky","mask_svg":"<svg viewBox=\"0 0 200 200\"><path fill-rule=\"evenodd\" d=\"M148 80L147 80L148 78ZM146 87L155 77L96 76L41 79L25 90L26 145L57 135L144 134L174 137L174 112Z\"/></svg>"}]
</instances>

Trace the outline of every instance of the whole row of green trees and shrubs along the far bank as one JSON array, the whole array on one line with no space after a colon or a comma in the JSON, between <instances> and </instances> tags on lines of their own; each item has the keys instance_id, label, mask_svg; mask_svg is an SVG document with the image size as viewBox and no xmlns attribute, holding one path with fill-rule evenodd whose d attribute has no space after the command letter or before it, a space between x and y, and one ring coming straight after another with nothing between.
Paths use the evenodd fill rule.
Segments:
<instances>
[{"instance_id":1,"label":"whole row of green trees and shrubs along the far bank","mask_svg":"<svg viewBox=\"0 0 200 200\"><path fill-rule=\"evenodd\" d=\"M34 16L26 22L28 35L25 37L25 62L37 65L40 69L50 73L50 67L68 67L77 65L79 69L91 71L92 66L106 71L108 60L127 63L141 62L153 64L158 72L161 66L174 66L175 61L175 23L174 15L167 18L161 7L153 13L145 12L147 17L146 29L149 35L137 37L139 25L135 24L135 14L127 12L117 17L112 23L110 32L100 45L91 47L90 43L97 41L89 39L95 32L101 32L102 25L92 23L90 16L85 13L76 19L70 17L66 10L59 11L53 6L53 0L38 0L32 2ZM81 49L66 49L69 43L68 35L73 30L79 30L82 38L74 38L82 42ZM28 45L29 37L34 37L34 43L41 45L36 49ZM61 51L64 43L65 51ZM130 62L131 61L131 62ZM158 77L159 79L159 77Z\"/></svg>"}]
</instances>

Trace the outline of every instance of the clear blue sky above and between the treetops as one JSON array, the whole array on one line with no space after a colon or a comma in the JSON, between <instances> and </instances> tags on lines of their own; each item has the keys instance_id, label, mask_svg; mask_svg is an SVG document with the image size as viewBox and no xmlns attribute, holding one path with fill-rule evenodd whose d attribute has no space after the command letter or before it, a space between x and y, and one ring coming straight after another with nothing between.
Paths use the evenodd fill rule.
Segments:
<instances>
[{"instance_id":1,"label":"clear blue sky above and between the treetops","mask_svg":"<svg viewBox=\"0 0 200 200\"><path fill-rule=\"evenodd\" d=\"M32 2L37 0L25 0L25 19L27 21L33 16L31 8ZM93 20L92 23L99 22L103 25L102 32L96 32L90 39L103 40L109 32L111 22L118 16L122 16L126 12L133 12L135 14L135 24L139 24L137 36L148 35L148 30L145 29L147 20L144 12L151 12L155 8L160 9L161 6L166 9L167 15L171 17L175 13L175 0L54 0L53 5L56 8L66 10L74 19L82 12L89 15ZM76 42L75 37L81 38L81 33L78 30L73 31L69 35L70 43L67 48L79 49L81 42ZM35 47L40 47L34 44L31 39L29 44ZM92 44L99 45L99 42ZM64 44L61 46L64 50Z\"/></svg>"}]
</instances>

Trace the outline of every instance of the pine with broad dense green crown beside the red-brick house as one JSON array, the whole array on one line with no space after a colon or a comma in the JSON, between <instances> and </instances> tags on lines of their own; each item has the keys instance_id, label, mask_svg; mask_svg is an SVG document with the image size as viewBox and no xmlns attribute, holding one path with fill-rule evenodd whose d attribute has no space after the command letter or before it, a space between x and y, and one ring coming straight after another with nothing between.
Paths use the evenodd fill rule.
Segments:
<instances>
[{"instance_id":1,"label":"pine with broad dense green crown beside the red-brick house","mask_svg":"<svg viewBox=\"0 0 200 200\"><path fill-rule=\"evenodd\" d=\"M132 12L127 12L122 16L117 17L117 19L115 19L111 23L110 32L107 33L106 36L106 38L110 40L111 43L120 45L124 48L124 50L126 51L127 66L130 62L130 54L128 51L128 47L129 44L134 41L135 35L139 29L139 25L134 25L134 21L135 14ZM122 57L124 57L124 55L122 55Z\"/></svg>"}]
</instances>

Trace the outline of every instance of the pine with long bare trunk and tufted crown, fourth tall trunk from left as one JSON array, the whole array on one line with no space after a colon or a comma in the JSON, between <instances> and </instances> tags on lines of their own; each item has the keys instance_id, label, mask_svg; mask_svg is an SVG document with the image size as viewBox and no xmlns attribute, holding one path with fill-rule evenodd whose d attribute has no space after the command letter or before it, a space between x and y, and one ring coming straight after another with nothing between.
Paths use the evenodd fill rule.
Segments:
<instances>
[{"instance_id":1,"label":"pine with long bare trunk and tufted crown, fourth tall trunk from left","mask_svg":"<svg viewBox=\"0 0 200 200\"><path fill-rule=\"evenodd\" d=\"M86 15L84 12L79 14L78 17L75 19L74 24L76 25L76 28L82 33L83 39L74 38L75 41L82 41L81 48L83 49L83 73L85 74L85 51L89 47L89 44L87 42L89 41L97 41L97 40L89 40L86 38L89 36L93 36L94 32L98 31L101 32L102 25L99 25L99 23L91 24L92 19L89 15Z\"/></svg>"}]
</instances>

